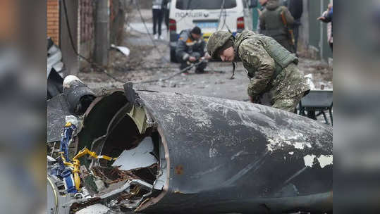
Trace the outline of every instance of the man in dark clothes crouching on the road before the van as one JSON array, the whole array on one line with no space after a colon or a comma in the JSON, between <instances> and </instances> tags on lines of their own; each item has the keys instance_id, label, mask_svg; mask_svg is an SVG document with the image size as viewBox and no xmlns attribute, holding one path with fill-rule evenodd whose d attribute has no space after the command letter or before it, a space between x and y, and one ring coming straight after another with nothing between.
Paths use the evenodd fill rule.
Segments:
<instances>
[{"instance_id":1,"label":"man in dark clothes crouching on the road before the van","mask_svg":"<svg viewBox=\"0 0 380 214\"><path fill-rule=\"evenodd\" d=\"M202 38L200 27L180 32L180 38L176 46L176 57L180 63L180 70L188 67L191 63L202 61L204 59L205 46L206 42ZM206 66L207 63L205 61L200 63L195 68L195 73L204 73Z\"/></svg>"}]
</instances>

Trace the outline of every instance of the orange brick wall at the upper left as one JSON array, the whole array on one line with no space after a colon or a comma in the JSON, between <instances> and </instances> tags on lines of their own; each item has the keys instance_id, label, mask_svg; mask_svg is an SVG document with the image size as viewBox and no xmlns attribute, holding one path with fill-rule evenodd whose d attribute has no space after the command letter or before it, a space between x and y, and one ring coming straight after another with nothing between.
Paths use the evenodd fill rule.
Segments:
<instances>
[{"instance_id":1,"label":"orange brick wall at the upper left","mask_svg":"<svg viewBox=\"0 0 380 214\"><path fill-rule=\"evenodd\" d=\"M59 0L47 0L47 36L59 44Z\"/></svg>"}]
</instances>

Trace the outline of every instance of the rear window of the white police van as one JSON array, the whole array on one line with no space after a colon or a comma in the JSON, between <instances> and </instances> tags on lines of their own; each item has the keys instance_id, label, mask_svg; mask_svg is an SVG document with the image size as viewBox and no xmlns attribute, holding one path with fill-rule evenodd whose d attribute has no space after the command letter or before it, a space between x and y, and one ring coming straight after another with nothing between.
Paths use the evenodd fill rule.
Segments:
<instances>
[{"instance_id":1,"label":"rear window of the white police van","mask_svg":"<svg viewBox=\"0 0 380 214\"><path fill-rule=\"evenodd\" d=\"M178 0L176 8L180 10L196 10L196 9L220 9L223 0ZM234 8L236 6L236 0L224 0L223 8Z\"/></svg>"}]
</instances>

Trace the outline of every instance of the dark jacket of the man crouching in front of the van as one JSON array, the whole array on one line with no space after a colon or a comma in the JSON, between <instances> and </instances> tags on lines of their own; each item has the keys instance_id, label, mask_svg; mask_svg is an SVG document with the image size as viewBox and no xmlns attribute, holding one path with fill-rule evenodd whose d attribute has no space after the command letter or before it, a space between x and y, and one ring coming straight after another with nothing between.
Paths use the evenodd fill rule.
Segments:
<instances>
[{"instance_id":1,"label":"dark jacket of the man crouching in front of the van","mask_svg":"<svg viewBox=\"0 0 380 214\"><path fill-rule=\"evenodd\" d=\"M200 56L204 56L206 42L204 42L202 37L198 40L192 39L190 31L191 29L180 32L180 38L176 46L176 57L183 61L188 61L193 52L198 52Z\"/></svg>"}]
</instances>

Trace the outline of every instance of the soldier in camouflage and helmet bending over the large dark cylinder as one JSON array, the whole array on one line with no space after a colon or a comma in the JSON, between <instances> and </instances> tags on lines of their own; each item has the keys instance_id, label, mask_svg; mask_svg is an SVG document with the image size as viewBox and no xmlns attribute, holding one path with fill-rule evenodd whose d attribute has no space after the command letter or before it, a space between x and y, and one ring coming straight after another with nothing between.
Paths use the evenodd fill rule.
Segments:
<instances>
[{"instance_id":1,"label":"soldier in camouflage and helmet bending over the large dark cylinder","mask_svg":"<svg viewBox=\"0 0 380 214\"><path fill-rule=\"evenodd\" d=\"M217 31L209 37L207 52L222 61L243 62L250 84L247 92L252 102L269 92L271 105L293 112L302 96L309 92L298 58L271 37L245 30L237 37Z\"/></svg>"}]
</instances>

